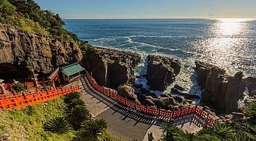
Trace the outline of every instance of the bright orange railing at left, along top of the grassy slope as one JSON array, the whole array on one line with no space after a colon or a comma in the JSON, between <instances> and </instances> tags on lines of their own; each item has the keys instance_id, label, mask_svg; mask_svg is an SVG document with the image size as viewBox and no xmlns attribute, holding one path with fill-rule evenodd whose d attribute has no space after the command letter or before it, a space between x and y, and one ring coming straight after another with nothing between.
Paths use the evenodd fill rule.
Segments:
<instances>
[{"instance_id":1,"label":"bright orange railing at left, along top of the grassy slope","mask_svg":"<svg viewBox=\"0 0 256 141\"><path fill-rule=\"evenodd\" d=\"M39 102L47 102L51 99L56 99L64 94L71 92L79 92L79 87L56 88L50 90L39 90L37 92L26 92L25 94L17 93L14 97L4 95L0 99L0 109L19 109ZM1 95L3 96L3 95Z\"/></svg>"}]
</instances>

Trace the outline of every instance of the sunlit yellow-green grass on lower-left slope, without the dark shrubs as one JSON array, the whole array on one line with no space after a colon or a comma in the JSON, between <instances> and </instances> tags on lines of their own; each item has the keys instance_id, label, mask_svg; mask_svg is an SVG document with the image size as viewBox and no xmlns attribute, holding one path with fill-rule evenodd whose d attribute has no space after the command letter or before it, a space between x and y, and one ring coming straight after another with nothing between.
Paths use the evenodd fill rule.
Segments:
<instances>
[{"instance_id":1,"label":"sunlit yellow-green grass on lower-left slope, without the dark shrubs","mask_svg":"<svg viewBox=\"0 0 256 141\"><path fill-rule=\"evenodd\" d=\"M65 116L66 104L63 97L49 102L28 106L25 109L2 111L0 133L7 133L12 140L71 140L74 130L61 135L44 130L44 123Z\"/></svg>"}]
</instances>

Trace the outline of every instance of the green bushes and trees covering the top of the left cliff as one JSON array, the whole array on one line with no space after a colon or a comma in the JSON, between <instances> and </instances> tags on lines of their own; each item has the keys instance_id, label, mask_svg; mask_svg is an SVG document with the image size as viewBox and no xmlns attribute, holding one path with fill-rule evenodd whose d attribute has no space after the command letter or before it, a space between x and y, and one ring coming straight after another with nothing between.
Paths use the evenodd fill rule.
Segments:
<instances>
[{"instance_id":1,"label":"green bushes and trees covering the top of the left cliff","mask_svg":"<svg viewBox=\"0 0 256 141\"><path fill-rule=\"evenodd\" d=\"M0 23L18 30L54 38L78 41L78 37L63 28L59 14L43 11L33 0L1 0Z\"/></svg>"}]
</instances>

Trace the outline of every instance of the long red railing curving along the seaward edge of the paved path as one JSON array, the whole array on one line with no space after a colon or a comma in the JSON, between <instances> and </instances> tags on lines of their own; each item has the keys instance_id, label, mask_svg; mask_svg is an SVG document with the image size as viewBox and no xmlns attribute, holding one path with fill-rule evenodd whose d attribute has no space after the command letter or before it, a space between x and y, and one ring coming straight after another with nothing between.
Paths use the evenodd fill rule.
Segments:
<instances>
[{"instance_id":1,"label":"long red railing curving along the seaward edge of the paved path","mask_svg":"<svg viewBox=\"0 0 256 141\"><path fill-rule=\"evenodd\" d=\"M145 106L142 104L138 104L137 102L130 101L129 99L126 99L124 97L121 97L116 92L111 92L111 90L107 89L106 87L102 87L95 82L95 80L90 76L87 71L85 71L85 75L87 80L89 80L90 85L94 87L99 92L102 92L102 94L107 95L108 97L111 97L112 99L115 99L117 102L121 102L122 104L125 104L126 106L130 106L134 109L138 109L139 111L143 111L146 114L154 114L156 116L162 116L166 118L176 118L183 116L185 114L190 113L196 113L200 118L208 118L209 123L214 123L214 118L207 116L207 114L202 111L202 109L198 108L198 106L189 107L188 109L181 109L178 111L166 111L163 109L157 109L150 106Z\"/></svg>"}]
</instances>

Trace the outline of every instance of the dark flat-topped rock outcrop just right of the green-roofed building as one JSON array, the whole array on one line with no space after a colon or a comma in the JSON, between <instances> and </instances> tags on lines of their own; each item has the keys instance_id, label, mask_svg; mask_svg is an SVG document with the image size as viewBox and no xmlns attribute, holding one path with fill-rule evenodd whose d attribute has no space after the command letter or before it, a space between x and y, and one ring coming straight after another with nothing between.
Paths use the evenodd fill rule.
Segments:
<instances>
[{"instance_id":1,"label":"dark flat-topped rock outcrop just right of the green-roofed building","mask_svg":"<svg viewBox=\"0 0 256 141\"><path fill-rule=\"evenodd\" d=\"M100 47L94 49L93 53L83 54L83 66L99 85L117 89L121 84L133 84L133 68L140 62L139 54Z\"/></svg>"}]
</instances>

